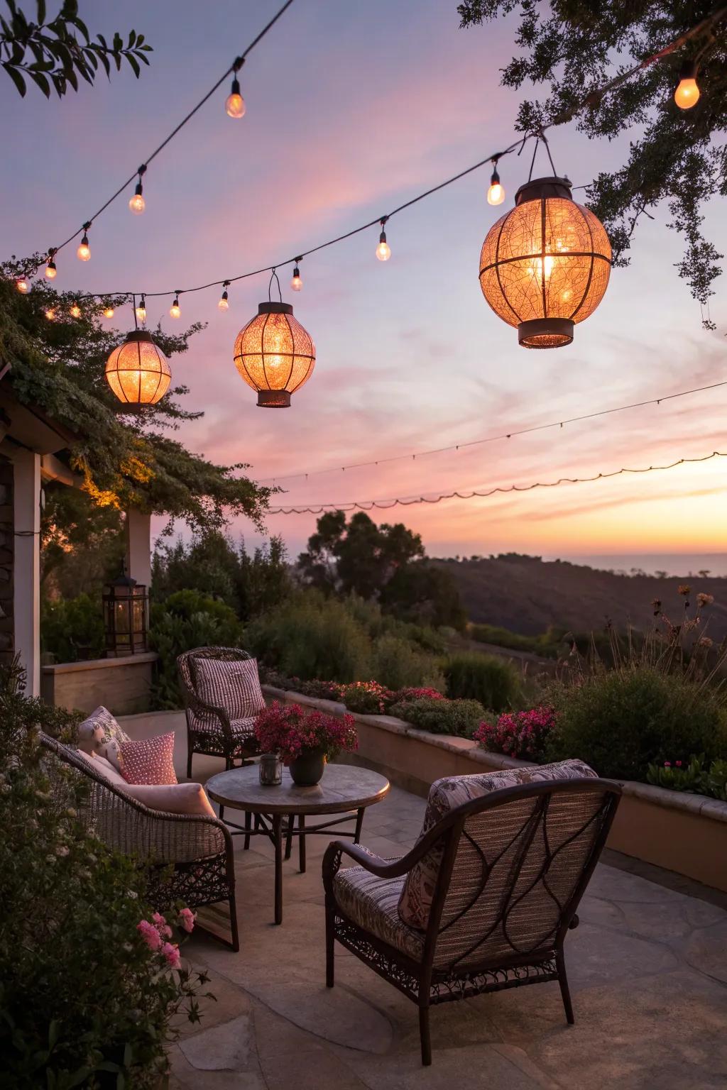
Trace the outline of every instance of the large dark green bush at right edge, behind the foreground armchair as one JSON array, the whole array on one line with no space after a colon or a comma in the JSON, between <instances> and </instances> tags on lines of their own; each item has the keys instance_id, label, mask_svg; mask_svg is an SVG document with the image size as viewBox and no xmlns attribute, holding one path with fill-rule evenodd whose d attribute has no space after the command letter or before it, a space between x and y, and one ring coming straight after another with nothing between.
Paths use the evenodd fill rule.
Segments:
<instances>
[{"instance_id":1,"label":"large dark green bush at right edge, behind the foreground armchair","mask_svg":"<svg viewBox=\"0 0 727 1090\"><path fill-rule=\"evenodd\" d=\"M599 669L552 686L546 700L558 713L548 758L581 758L601 776L643 779L650 764L727 756L724 695L682 674Z\"/></svg>"}]
</instances>

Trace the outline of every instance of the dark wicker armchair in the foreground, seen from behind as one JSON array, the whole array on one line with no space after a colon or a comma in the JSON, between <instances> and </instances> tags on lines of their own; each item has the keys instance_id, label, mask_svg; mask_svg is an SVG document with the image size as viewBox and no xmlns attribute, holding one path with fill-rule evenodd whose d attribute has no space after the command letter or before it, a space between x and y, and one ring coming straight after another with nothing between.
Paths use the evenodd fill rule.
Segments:
<instances>
[{"instance_id":1,"label":"dark wicker armchair in the foreground, seen from behind","mask_svg":"<svg viewBox=\"0 0 727 1090\"><path fill-rule=\"evenodd\" d=\"M327 985L338 941L416 1003L423 1064L432 1063L429 1006L437 1003L557 980L572 1024L564 942L578 925L575 909L620 794L604 779L492 791L452 810L393 861L341 840L329 845ZM419 931L401 921L397 905L404 876L433 848L441 850L441 864L427 928ZM359 867L339 871L344 855ZM360 898L353 906L352 888Z\"/></svg>"}]
</instances>

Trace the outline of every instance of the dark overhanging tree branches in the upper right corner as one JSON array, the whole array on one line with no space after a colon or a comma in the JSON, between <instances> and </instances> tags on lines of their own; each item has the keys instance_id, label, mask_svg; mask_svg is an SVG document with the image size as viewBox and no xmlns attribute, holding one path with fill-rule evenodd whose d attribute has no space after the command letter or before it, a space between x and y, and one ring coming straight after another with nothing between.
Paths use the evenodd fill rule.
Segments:
<instances>
[{"instance_id":1,"label":"dark overhanging tree branches in the upper right corner","mask_svg":"<svg viewBox=\"0 0 727 1090\"><path fill-rule=\"evenodd\" d=\"M637 128L629 156L619 170L602 172L586 186L589 207L603 221L614 246L615 264L628 264L627 251L639 219L667 202L669 227L686 242L679 276L702 306L723 257L702 231L704 203L727 195L727 12L699 35L614 92L599 97L599 86L653 56L719 5L713 0L463 0L463 27L512 12L519 14L518 56L501 69L501 83L521 87L549 85L544 101L521 102L517 129L537 133L591 95L578 114L578 128L590 138L607 140ZM701 98L689 110L674 101L682 65L698 65ZM577 182L587 178L577 178ZM708 316L705 326L714 328Z\"/></svg>"}]
</instances>

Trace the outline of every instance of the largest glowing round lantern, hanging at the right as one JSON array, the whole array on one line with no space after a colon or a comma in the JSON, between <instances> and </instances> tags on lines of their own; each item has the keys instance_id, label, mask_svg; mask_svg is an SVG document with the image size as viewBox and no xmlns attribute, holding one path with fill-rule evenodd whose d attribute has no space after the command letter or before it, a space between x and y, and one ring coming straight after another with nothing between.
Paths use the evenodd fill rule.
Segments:
<instances>
[{"instance_id":1,"label":"largest glowing round lantern, hanging at the right","mask_svg":"<svg viewBox=\"0 0 727 1090\"><path fill-rule=\"evenodd\" d=\"M514 208L490 228L480 287L525 348L560 348L595 311L608 286L611 250L603 223L571 196L566 178L518 190Z\"/></svg>"}]
</instances>

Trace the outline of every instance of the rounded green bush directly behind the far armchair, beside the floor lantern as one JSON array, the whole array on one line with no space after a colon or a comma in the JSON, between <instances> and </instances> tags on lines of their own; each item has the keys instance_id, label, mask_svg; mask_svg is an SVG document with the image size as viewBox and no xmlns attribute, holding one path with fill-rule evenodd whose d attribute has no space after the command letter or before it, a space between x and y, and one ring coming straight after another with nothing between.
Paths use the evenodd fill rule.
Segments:
<instances>
[{"instance_id":1,"label":"rounded green bush directly behind the far armchair, beside the floor lantern","mask_svg":"<svg viewBox=\"0 0 727 1090\"><path fill-rule=\"evenodd\" d=\"M152 606L149 646L159 655L152 688L155 708L182 707L178 656L193 647L242 647L243 629L223 602L198 591L177 591Z\"/></svg>"}]
</instances>

